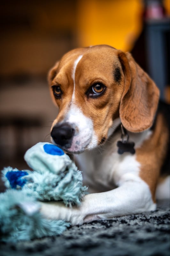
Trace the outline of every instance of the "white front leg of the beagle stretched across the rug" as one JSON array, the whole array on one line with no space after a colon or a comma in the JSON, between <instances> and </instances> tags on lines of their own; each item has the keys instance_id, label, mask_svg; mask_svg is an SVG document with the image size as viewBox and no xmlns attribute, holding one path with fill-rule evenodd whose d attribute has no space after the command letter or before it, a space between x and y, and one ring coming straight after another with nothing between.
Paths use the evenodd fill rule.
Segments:
<instances>
[{"instance_id":1,"label":"white front leg of the beagle stretched across the rug","mask_svg":"<svg viewBox=\"0 0 170 256\"><path fill-rule=\"evenodd\" d=\"M46 218L66 220L72 225L156 209L149 186L143 180L129 180L116 189L88 194L79 207L70 208L59 202L42 202L41 206Z\"/></svg>"}]
</instances>

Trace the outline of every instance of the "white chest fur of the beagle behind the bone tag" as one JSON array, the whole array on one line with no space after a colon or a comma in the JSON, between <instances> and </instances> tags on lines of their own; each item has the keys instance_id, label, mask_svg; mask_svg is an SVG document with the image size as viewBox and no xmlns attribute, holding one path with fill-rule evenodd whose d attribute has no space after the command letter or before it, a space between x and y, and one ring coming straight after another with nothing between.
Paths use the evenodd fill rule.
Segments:
<instances>
[{"instance_id":1,"label":"white chest fur of the beagle behind the bone tag","mask_svg":"<svg viewBox=\"0 0 170 256\"><path fill-rule=\"evenodd\" d=\"M150 135L150 130L129 133L129 141L134 141L135 148L139 148ZM89 187L90 193L111 190L126 180L141 180L140 163L136 160L136 155L117 153L116 144L120 138L121 133L117 132L108 138L104 146L76 156L84 184Z\"/></svg>"}]
</instances>

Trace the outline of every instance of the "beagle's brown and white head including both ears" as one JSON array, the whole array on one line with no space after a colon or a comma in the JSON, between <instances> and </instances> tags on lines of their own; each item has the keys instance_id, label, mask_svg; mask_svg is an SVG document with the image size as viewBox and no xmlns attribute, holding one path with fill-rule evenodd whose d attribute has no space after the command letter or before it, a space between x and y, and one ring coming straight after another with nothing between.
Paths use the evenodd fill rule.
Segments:
<instances>
[{"instance_id":1,"label":"beagle's brown and white head including both ears","mask_svg":"<svg viewBox=\"0 0 170 256\"><path fill-rule=\"evenodd\" d=\"M107 45L78 48L56 63L48 80L59 107L51 138L68 152L104 143L118 117L131 132L153 123L159 91L130 53Z\"/></svg>"}]
</instances>

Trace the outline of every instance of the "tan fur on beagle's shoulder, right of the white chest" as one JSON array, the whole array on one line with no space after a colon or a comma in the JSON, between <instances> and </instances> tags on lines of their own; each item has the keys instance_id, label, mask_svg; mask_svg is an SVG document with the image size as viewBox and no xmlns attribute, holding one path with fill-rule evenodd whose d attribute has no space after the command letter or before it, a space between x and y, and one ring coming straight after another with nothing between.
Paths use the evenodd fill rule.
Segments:
<instances>
[{"instance_id":1,"label":"tan fur on beagle's shoulder, right of the white chest","mask_svg":"<svg viewBox=\"0 0 170 256\"><path fill-rule=\"evenodd\" d=\"M168 128L162 114L158 114L151 138L136 150L136 160L141 163L140 177L149 185L154 202L160 169L166 155L167 141Z\"/></svg>"}]
</instances>

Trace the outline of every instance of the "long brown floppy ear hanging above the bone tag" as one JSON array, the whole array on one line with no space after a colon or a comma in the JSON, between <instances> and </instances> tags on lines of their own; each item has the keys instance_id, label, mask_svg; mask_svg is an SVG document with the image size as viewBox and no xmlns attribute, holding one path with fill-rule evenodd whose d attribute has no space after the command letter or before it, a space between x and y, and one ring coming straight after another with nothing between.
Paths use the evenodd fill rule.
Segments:
<instances>
[{"instance_id":1,"label":"long brown floppy ear hanging above the bone tag","mask_svg":"<svg viewBox=\"0 0 170 256\"><path fill-rule=\"evenodd\" d=\"M158 106L159 90L130 53L125 54L119 51L118 57L124 73L120 119L128 131L142 132L153 123Z\"/></svg>"}]
</instances>

